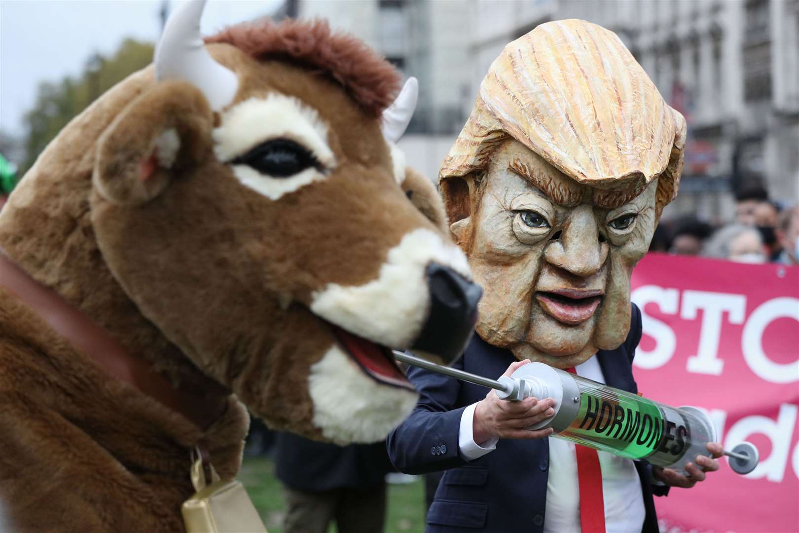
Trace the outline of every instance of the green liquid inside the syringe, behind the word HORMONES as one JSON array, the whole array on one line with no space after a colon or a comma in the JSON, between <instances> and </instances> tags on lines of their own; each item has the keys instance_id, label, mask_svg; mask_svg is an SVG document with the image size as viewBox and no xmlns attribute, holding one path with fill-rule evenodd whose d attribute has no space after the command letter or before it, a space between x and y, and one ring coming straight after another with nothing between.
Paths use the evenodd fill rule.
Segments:
<instances>
[{"instance_id":1,"label":"green liquid inside the syringe, behind the word HORMONES","mask_svg":"<svg viewBox=\"0 0 799 533\"><path fill-rule=\"evenodd\" d=\"M578 414L557 436L628 459L644 459L657 451L665 424L654 402L618 390L609 393L594 382L579 387Z\"/></svg>"}]
</instances>

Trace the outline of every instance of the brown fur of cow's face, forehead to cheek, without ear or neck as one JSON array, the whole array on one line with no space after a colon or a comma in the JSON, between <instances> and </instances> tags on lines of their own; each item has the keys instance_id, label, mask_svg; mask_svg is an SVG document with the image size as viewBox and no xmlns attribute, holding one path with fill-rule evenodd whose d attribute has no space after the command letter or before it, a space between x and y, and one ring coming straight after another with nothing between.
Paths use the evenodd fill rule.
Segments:
<instances>
[{"instance_id":1,"label":"brown fur of cow's face, forehead to cheek, without ear or neck","mask_svg":"<svg viewBox=\"0 0 799 533\"><path fill-rule=\"evenodd\" d=\"M252 74L252 78L240 75L237 101L274 88L318 109L331 125L330 144L338 164L348 172L320 182L314 192L300 189L280 208L233 179L220 179L222 165L209 161L193 175L173 181L141 209L94 197L93 225L101 232L97 238L116 279L166 336L206 373L228 376L228 383L254 412L267 416L264 406L269 405L272 425L318 438L318 430L300 422L308 420L310 410L301 380L322 355L321 348L329 345L330 333L306 307L292 305L283 312L280 301L308 302L312 290L324 287L326 280L344 285L372 280L387 244L396 244L419 225L431 225L393 183L379 122L364 121L362 111L332 82L308 78L303 70L282 62L256 70L256 60L239 50L224 45L213 50L234 70ZM181 90L175 97L184 94ZM135 121L125 124L125 129L138 131L146 115L130 116ZM124 153L133 146L122 143L103 149ZM315 220L336 224L309 225ZM293 255L280 257L285 242L292 243ZM341 261L340 250L348 250L352 262ZM226 275L214 275L207 261L216 261L215 268ZM214 302L207 308L197 309L197 280L203 280L204 292ZM168 300L162 297L165 287L171 295ZM268 294L268 300L256 297L261 293ZM242 313L233 314L231 308L242 308ZM209 330L207 324L215 327ZM259 347L269 351L252 356ZM276 351L284 350L318 355L276 356ZM219 353L230 356L209 358ZM276 364L282 366L272 368ZM292 394L284 396L289 391Z\"/></svg>"}]
</instances>

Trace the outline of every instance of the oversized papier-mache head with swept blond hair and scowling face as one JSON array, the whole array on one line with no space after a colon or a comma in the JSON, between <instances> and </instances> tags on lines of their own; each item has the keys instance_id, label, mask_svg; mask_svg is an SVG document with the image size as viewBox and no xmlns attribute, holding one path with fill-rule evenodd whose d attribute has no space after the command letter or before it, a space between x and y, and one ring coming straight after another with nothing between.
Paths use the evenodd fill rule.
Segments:
<instances>
[{"instance_id":1,"label":"oversized papier-mache head with swept blond hair and scowling face","mask_svg":"<svg viewBox=\"0 0 799 533\"><path fill-rule=\"evenodd\" d=\"M622 344L630 272L677 194L685 138L609 30L547 22L508 44L439 173L487 287L483 339L561 367Z\"/></svg>"}]
</instances>

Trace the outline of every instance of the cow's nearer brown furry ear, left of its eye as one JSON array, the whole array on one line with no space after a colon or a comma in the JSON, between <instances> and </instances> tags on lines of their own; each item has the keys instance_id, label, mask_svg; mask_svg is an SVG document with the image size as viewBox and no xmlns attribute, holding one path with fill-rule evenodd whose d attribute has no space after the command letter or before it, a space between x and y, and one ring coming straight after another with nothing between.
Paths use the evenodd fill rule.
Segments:
<instances>
[{"instance_id":1,"label":"cow's nearer brown furry ear, left of its eye","mask_svg":"<svg viewBox=\"0 0 799 533\"><path fill-rule=\"evenodd\" d=\"M187 82L161 82L133 100L97 141L93 185L106 200L141 205L211 155L213 112Z\"/></svg>"}]
</instances>

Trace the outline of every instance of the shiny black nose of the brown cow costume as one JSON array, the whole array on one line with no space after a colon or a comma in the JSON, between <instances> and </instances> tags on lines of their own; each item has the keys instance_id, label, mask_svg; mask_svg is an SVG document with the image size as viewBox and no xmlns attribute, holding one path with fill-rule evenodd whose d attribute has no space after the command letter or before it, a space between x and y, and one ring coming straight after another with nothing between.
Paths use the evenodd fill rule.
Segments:
<instances>
[{"instance_id":1,"label":"shiny black nose of the brown cow costume","mask_svg":"<svg viewBox=\"0 0 799 533\"><path fill-rule=\"evenodd\" d=\"M477 302L483 289L451 268L427 265L430 312L411 349L439 356L444 364L457 360L474 332Z\"/></svg>"}]
</instances>

